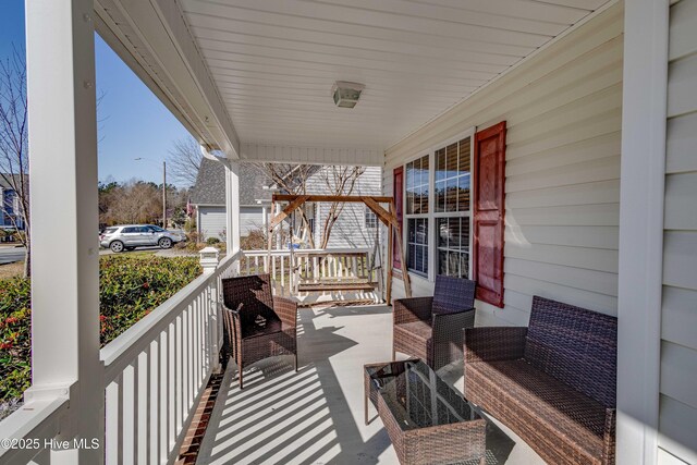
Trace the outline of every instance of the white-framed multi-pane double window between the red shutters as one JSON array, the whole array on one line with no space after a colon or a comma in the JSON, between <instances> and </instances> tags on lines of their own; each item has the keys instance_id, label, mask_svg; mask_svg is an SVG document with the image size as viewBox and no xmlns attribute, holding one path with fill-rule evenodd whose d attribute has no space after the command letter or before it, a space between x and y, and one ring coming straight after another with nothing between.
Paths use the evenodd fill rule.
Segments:
<instances>
[{"instance_id":1,"label":"white-framed multi-pane double window between the red shutters","mask_svg":"<svg viewBox=\"0 0 697 465\"><path fill-rule=\"evenodd\" d=\"M474 129L404 164L404 248L407 270L469 278Z\"/></svg>"}]
</instances>

